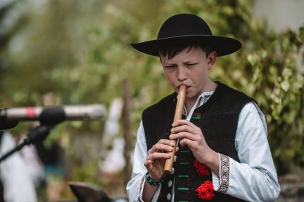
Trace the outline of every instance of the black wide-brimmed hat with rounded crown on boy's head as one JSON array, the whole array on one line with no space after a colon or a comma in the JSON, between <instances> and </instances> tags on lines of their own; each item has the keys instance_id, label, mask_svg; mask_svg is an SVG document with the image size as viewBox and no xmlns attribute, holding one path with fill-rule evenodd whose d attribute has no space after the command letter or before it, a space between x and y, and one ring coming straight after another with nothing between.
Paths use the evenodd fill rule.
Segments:
<instances>
[{"instance_id":1,"label":"black wide-brimmed hat with rounded crown on boy's head","mask_svg":"<svg viewBox=\"0 0 304 202\"><path fill-rule=\"evenodd\" d=\"M207 23L194 14L176 14L164 21L158 38L141 43L131 43L131 46L140 52L159 56L161 47L177 43L199 43L211 46L217 56L236 52L242 43L229 37L213 36Z\"/></svg>"}]
</instances>

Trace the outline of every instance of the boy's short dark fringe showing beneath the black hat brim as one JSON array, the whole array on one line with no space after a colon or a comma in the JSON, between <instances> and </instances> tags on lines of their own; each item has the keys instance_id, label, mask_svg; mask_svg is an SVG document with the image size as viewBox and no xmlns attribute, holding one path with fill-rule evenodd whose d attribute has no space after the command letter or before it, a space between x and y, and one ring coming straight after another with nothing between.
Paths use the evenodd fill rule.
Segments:
<instances>
[{"instance_id":1,"label":"boy's short dark fringe showing beneath the black hat brim","mask_svg":"<svg viewBox=\"0 0 304 202\"><path fill-rule=\"evenodd\" d=\"M208 44L202 43L167 43L164 46L160 46L159 52L163 56L168 56L169 59L175 57L176 54L182 52L182 50L188 49L191 50L192 48L200 48L206 53L206 57L213 51L213 48Z\"/></svg>"}]
</instances>

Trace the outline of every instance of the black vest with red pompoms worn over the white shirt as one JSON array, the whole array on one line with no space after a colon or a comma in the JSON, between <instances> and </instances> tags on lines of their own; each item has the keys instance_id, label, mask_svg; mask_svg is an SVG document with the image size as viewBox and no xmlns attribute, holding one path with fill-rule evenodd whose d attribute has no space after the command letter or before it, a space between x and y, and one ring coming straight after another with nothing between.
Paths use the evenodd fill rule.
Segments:
<instances>
[{"instance_id":1,"label":"black vest with red pompoms worn over the white shirt","mask_svg":"<svg viewBox=\"0 0 304 202\"><path fill-rule=\"evenodd\" d=\"M254 99L227 85L217 83L218 87L209 101L194 110L190 121L201 128L207 144L212 150L230 156L239 162L234 144L238 117L243 106ZM174 92L144 110L142 120L148 150L159 139L169 139L176 102L177 94ZM180 147L180 151L175 155L177 158L173 163L174 172L166 175L158 201L171 201L173 181L175 181L175 201L203 201L198 198L196 188L205 181L212 181L211 170L208 168L209 175L198 174L193 166L195 158L187 146ZM215 192L215 196L210 201L242 200Z\"/></svg>"}]
</instances>

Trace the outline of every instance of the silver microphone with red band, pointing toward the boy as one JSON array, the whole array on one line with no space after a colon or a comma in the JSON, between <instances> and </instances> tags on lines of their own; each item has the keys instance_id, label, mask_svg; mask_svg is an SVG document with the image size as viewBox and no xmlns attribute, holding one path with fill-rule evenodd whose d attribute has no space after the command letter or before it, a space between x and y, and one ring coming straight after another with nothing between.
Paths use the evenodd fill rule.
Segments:
<instances>
[{"instance_id":1,"label":"silver microphone with red band, pointing toward the boy","mask_svg":"<svg viewBox=\"0 0 304 202\"><path fill-rule=\"evenodd\" d=\"M52 125L62 121L102 119L105 115L106 108L102 104L0 109L0 121L10 124L12 121L40 121Z\"/></svg>"}]
</instances>

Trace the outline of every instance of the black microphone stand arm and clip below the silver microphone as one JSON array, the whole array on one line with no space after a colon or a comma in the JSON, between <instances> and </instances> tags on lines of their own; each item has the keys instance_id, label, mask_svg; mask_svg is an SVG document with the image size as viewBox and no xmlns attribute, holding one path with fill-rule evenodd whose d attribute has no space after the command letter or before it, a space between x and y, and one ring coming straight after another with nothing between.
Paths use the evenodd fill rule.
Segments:
<instances>
[{"instance_id":1,"label":"black microphone stand arm and clip below the silver microphone","mask_svg":"<svg viewBox=\"0 0 304 202\"><path fill-rule=\"evenodd\" d=\"M23 140L23 143L17 145L15 148L4 154L0 157L0 163L4 159L6 159L11 154L14 154L15 152L21 150L25 145L35 144L40 141L44 141L46 137L48 137L48 134L50 134L50 130L55 128L55 125L39 125L36 128L34 128L31 132L27 134L27 138Z\"/></svg>"}]
</instances>

